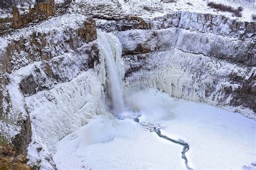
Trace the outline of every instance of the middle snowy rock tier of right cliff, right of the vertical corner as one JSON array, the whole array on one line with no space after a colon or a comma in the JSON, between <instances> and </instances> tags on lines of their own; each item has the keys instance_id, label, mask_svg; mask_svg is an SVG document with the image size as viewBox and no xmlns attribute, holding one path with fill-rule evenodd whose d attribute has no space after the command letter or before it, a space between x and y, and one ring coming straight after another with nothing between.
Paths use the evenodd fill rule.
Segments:
<instances>
[{"instance_id":1,"label":"middle snowy rock tier of right cliff, right of the vertical corner","mask_svg":"<svg viewBox=\"0 0 256 170\"><path fill-rule=\"evenodd\" d=\"M207 35L207 36L206 36ZM254 42L179 30L176 47L181 51L256 66Z\"/></svg>"}]
</instances>

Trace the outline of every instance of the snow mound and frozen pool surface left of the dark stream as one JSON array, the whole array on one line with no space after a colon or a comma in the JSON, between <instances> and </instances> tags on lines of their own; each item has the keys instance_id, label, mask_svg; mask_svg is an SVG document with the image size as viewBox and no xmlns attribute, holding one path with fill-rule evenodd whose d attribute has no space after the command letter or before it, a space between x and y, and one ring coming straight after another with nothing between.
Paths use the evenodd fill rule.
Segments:
<instances>
[{"instance_id":1,"label":"snow mound and frozen pool surface left of the dark stream","mask_svg":"<svg viewBox=\"0 0 256 170\"><path fill-rule=\"evenodd\" d=\"M53 160L58 169L155 169L170 162L184 169L181 150L131 119L107 115L60 140Z\"/></svg>"}]
</instances>

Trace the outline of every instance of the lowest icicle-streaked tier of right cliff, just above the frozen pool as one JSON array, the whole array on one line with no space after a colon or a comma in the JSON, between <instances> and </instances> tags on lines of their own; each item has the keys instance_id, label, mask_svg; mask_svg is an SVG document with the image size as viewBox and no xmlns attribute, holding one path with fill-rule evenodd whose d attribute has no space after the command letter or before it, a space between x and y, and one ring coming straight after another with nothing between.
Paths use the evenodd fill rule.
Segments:
<instances>
[{"instance_id":1,"label":"lowest icicle-streaked tier of right cliff, just above the frozen pool","mask_svg":"<svg viewBox=\"0 0 256 170\"><path fill-rule=\"evenodd\" d=\"M255 67L179 49L125 55L126 91L157 88L256 119Z\"/></svg>"}]
</instances>

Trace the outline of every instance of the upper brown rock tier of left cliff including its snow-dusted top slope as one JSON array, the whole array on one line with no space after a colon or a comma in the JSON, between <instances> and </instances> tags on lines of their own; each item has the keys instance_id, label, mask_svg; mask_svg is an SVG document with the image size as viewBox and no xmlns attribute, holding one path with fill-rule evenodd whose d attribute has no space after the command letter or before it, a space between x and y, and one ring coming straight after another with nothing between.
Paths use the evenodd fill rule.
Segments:
<instances>
[{"instance_id":1,"label":"upper brown rock tier of left cliff including its snow-dusted top slope","mask_svg":"<svg viewBox=\"0 0 256 170\"><path fill-rule=\"evenodd\" d=\"M73 17L76 17L74 15ZM72 18L63 16L65 23L72 22ZM80 20L84 20L79 16ZM55 23L56 27L52 27ZM53 18L42 23L42 30L37 26L12 33L14 39L6 36L5 43L8 47L1 52L3 62L3 72L11 73L29 63L41 60L49 60L54 56L64 54L69 51L76 51L82 42L93 41L97 38L96 24L92 19L79 23L79 28L71 26L58 27L62 25L60 18ZM17 36L16 36L17 35Z\"/></svg>"}]
</instances>

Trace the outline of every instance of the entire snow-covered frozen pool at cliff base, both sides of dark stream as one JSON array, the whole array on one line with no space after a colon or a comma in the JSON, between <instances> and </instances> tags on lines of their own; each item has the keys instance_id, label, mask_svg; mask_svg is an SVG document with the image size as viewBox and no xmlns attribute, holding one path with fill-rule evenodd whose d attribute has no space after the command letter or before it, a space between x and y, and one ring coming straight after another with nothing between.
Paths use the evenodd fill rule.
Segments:
<instances>
[{"instance_id":1,"label":"entire snow-covered frozen pool at cliff base, both sides of dark stream","mask_svg":"<svg viewBox=\"0 0 256 170\"><path fill-rule=\"evenodd\" d=\"M126 104L140 123L111 114L57 143L53 160L58 169L185 169L182 146L159 138L145 124L159 124L161 133L190 145L188 165L194 169L242 169L256 160L256 122L206 104L172 98L146 89L131 94ZM130 113L130 114L129 114ZM255 167L254 167L255 168Z\"/></svg>"}]
</instances>

